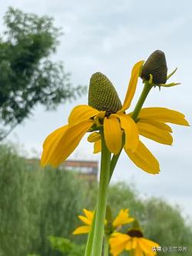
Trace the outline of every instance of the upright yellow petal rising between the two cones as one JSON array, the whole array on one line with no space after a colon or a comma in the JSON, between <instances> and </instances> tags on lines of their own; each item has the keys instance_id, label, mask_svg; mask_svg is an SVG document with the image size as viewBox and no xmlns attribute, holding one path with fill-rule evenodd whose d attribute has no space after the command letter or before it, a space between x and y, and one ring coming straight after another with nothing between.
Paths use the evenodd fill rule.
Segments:
<instances>
[{"instance_id":1,"label":"upright yellow petal rising between the two cones","mask_svg":"<svg viewBox=\"0 0 192 256\"><path fill-rule=\"evenodd\" d=\"M121 112L124 112L131 105L132 98L134 97L134 92L137 86L137 80L140 75L141 66L144 64L144 61L137 62L132 71L131 71L131 79L129 81L129 85L127 88L127 94L124 98L124 105L121 109Z\"/></svg>"}]
</instances>

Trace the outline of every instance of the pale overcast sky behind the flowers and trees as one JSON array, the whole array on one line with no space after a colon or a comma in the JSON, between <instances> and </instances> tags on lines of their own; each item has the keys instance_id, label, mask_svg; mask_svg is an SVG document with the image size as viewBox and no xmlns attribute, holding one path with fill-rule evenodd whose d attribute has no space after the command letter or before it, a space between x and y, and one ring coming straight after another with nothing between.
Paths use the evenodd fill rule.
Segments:
<instances>
[{"instance_id":1,"label":"pale overcast sky behind the flowers and trees","mask_svg":"<svg viewBox=\"0 0 192 256\"><path fill-rule=\"evenodd\" d=\"M65 62L71 72L73 85L88 85L91 74L101 71L113 81L124 100L131 67L156 49L166 53L169 71L178 68L172 81L182 85L175 88L157 88L151 91L144 106L167 107L183 112L192 122L191 115L191 45L192 18L190 1L62 1L62 0L7 0L1 2L2 16L8 6L38 15L51 15L55 25L63 29L55 59ZM132 103L141 93L141 81ZM61 105L57 111L46 112L38 106L34 115L15 128L9 141L19 141L28 155L41 155L45 137L55 128L66 124L75 105L87 104L87 95L78 101ZM192 131L173 125L174 145L164 146L143 139L161 163L160 175L148 175L136 168L123 153L114 171L113 181L136 184L143 197L157 196L172 204L180 204L184 215L192 216ZM99 159L91 154L86 138L81 141L71 158Z\"/></svg>"}]
</instances>

